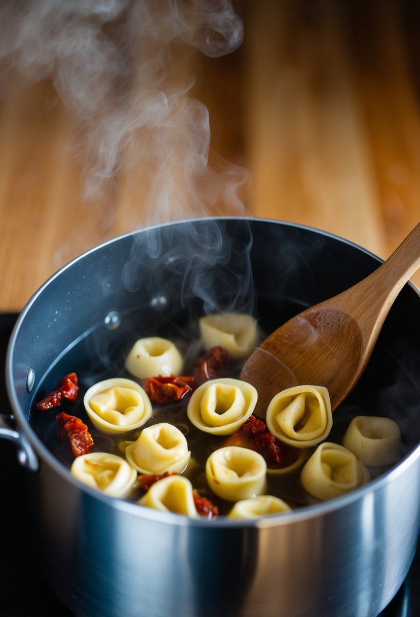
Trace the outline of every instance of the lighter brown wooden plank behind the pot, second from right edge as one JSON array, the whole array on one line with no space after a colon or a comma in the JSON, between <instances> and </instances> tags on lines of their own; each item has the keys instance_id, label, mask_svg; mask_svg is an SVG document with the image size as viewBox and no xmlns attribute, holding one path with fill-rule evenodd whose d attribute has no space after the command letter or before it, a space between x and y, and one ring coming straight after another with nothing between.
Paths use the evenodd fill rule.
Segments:
<instances>
[{"instance_id":1,"label":"lighter brown wooden plank behind the pot, second from right edge","mask_svg":"<svg viewBox=\"0 0 420 617\"><path fill-rule=\"evenodd\" d=\"M384 254L381 212L337 4L251 5L252 212L331 231ZM273 42L275 43L273 44Z\"/></svg>"}]
</instances>

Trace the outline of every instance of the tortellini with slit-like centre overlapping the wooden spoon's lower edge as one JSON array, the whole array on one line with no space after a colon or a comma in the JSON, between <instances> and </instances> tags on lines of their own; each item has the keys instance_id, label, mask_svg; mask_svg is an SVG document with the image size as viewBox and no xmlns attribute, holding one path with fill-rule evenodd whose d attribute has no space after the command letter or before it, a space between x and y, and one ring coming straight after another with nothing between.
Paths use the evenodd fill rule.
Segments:
<instances>
[{"instance_id":1,"label":"tortellini with slit-like centre overlapping the wooden spoon's lower edge","mask_svg":"<svg viewBox=\"0 0 420 617\"><path fill-rule=\"evenodd\" d=\"M265 418L270 433L285 444L309 448L325 439L333 426L328 389L295 386L279 392Z\"/></svg>"}]
</instances>

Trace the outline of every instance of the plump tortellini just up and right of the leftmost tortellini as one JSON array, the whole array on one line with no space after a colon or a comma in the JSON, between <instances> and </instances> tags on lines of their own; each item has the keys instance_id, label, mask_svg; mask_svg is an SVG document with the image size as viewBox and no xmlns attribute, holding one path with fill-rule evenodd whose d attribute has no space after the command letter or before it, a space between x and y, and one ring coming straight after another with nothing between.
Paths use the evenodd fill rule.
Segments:
<instances>
[{"instance_id":1,"label":"plump tortellini just up and right of the leftmost tortellini","mask_svg":"<svg viewBox=\"0 0 420 617\"><path fill-rule=\"evenodd\" d=\"M190 455L187 439L167 422L143 429L137 441L126 447L127 461L140 473L147 474L182 473Z\"/></svg>"}]
</instances>

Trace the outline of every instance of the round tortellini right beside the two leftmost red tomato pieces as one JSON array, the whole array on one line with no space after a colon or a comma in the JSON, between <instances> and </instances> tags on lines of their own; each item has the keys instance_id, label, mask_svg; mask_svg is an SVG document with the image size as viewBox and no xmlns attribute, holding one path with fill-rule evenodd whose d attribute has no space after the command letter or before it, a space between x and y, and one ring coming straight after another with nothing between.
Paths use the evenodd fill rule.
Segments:
<instances>
[{"instance_id":1,"label":"round tortellini right beside the two leftmost red tomato pieces","mask_svg":"<svg viewBox=\"0 0 420 617\"><path fill-rule=\"evenodd\" d=\"M105 434L128 433L151 416L151 402L131 379L105 379L84 395L84 407L95 427Z\"/></svg>"}]
</instances>

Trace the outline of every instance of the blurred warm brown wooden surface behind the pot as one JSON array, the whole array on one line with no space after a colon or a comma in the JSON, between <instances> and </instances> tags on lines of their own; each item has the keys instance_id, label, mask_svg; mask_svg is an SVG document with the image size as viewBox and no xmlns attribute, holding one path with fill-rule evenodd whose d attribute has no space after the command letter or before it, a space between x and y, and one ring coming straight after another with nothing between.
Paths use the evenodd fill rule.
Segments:
<instances>
[{"instance_id":1,"label":"blurred warm brown wooden surface behind the pot","mask_svg":"<svg viewBox=\"0 0 420 617\"><path fill-rule=\"evenodd\" d=\"M164 168L153 159L153 132L137 129L123 156L116 150L124 167L97 183L88 199L83 190L92 163L74 102L63 104L52 79L36 70L36 49L25 79L18 70L9 73L0 102L1 311L22 309L81 252L149 222L249 212L330 231L382 258L419 222L418 3L259 0L235 7L244 24L240 48L218 58L179 48L174 68L179 83L195 73L188 101L208 108L212 151L232 163L211 154L219 180L230 180L212 201L203 193L199 205L183 189L177 147L184 141L171 141ZM131 92L145 57L155 56L137 48L132 54ZM12 56L7 62L18 65ZM186 100L180 96L179 104ZM101 126L105 134L112 118L96 124L96 134ZM243 207L222 196L232 178L243 179L238 166L249 172L235 193ZM174 172L171 207L165 202L163 209L161 201L148 201L151 183L152 197L163 195L156 182L162 169ZM419 272L413 280L420 284Z\"/></svg>"}]
</instances>

